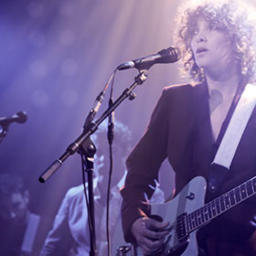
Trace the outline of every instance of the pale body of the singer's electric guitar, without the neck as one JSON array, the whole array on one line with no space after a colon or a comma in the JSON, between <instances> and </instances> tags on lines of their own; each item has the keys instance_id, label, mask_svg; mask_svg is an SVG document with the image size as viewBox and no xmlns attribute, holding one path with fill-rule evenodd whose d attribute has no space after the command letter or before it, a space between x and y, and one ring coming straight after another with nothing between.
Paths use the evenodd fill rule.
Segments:
<instances>
[{"instance_id":1,"label":"pale body of the singer's electric guitar, without the neck","mask_svg":"<svg viewBox=\"0 0 256 256\"><path fill-rule=\"evenodd\" d=\"M152 215L160 216L170 224L176 223L178 216L189 214L197 208L204 206L207 183L204 177L197 176L192 179L181 192L173 199L164 204L151 205ZM175 225L175 224L174 224ZM118 255L143 256L140 248L135 245L129 253ZM176 227L171 230L170 235L165 240L165 248L156 252L154 256L197 256L197 231L191 232L186 240L178 240Z\"/></svg>"}]
</instances>

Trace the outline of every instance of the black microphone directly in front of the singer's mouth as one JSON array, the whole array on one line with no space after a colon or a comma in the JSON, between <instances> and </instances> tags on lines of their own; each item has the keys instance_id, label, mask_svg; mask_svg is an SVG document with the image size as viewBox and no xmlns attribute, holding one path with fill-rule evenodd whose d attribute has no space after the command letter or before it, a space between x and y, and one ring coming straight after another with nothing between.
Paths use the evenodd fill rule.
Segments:
<instances>
[{"instance_id":1,"label":"black microphone directly in front of the singer's mouth","mask_svg":"<svg viewBox=\"0 0 256 256\"><path fill-rule=\"evenodd\" d=\"M124 62L116 69L149 69L157 63L173 63L181 58L179 48L164 48L153 55L148 55L141 59L133 59L132 61Z\"/></svg>"}]
</instances>

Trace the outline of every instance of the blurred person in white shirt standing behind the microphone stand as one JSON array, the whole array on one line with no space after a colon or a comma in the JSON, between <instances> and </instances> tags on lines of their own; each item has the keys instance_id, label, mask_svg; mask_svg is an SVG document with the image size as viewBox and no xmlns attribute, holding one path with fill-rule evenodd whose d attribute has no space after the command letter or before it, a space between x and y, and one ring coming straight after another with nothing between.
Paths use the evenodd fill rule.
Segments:
<instances>
[{"instance_id":1,"label":"blurred person in white shirt standing behind the microphone stand","mask_svg":"<svg viewBox=\"0 0 256 256\"><path fill-rule=\"evenodd\" d=\"M110 234L111 238L120 223L122 197L119 188L123 186L125 175L125 159L131 149L131 132L123 123L115 122L114 140L112 144L113 172L110 203ZM106 202L109 179L109 144L107 142L107 123L101 123L98 131L92 135L97 147L95 155L94 178L94 211L96 245L98 255L107 255L106 234ZM122 232L119 237L123 237ZM122 244L121 244L122 245ZM112 248L116 251L116 248ZM90 231L88 211L83 185L72 187L64 197L54 226L48 233L40 256L49 255L89 255Z\"/></svg>"}]
</instances>

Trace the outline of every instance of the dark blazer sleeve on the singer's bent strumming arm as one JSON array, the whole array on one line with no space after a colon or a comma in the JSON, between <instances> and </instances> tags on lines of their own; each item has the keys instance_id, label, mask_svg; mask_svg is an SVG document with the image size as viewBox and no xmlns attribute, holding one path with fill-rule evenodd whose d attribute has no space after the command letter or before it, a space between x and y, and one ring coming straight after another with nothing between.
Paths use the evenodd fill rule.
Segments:
<instances>
[{"instance_id":1,"label":"dark blazer sleeve on the singer's bent strumming arm","mask_svg":"<svg viewBox=\"0 0 256 256\"><path fill-rule=\"evenodd\" d=\"M166 157L169 98L170 93L165 89L142 139L126 161L128 174L121 194L123 233L128 242L135 241L131 232L133 221L150 213L146 198L154 193L151 187L155 187L158 170Z\"/></svg>"}]
</instances>

